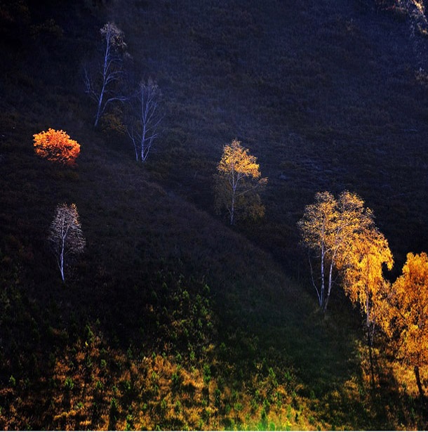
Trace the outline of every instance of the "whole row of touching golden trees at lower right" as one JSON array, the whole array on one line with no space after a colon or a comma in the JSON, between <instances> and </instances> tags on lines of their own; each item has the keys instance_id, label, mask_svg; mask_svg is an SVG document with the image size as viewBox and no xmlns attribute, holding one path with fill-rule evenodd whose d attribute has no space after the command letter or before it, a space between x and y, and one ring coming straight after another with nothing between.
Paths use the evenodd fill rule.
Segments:
<instances>
[{"instance_id":1,"label":"whole row of touching golden trees at lower right","mask_svg":"<svg viewBox=\"0 0 428 432\"><path fill-rule=\"evenodd\" d=\"M375 330L380 329L397 360L413 367L424 398L420 367L428 364L427 254L408 254L403 275L389 282L383 272L391 270L394 261L387 239L375 226L373 211L348 191L337 199L330 192L317 192L298 228L309 252L319 306L326 311L334 280L339 277L349 299L365 315L372 379L371 348ZM314 258L318 276L314 275Z\"/></svg>"}]
</instances>

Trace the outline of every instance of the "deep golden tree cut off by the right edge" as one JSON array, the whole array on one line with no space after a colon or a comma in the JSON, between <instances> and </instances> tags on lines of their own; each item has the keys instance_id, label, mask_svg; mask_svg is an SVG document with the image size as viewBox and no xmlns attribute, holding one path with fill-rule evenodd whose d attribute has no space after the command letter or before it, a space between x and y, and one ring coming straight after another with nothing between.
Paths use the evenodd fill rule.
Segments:
<instances>
[{"instance_id":1,"label":"deep golden tree cut off by the right edge","mask_svg":"<svg viewBox=\"0 0 428 432\"><path fill-rule=\"evenodd\" d=\"M421 398L420 368L428 365L428 256L407 255L403 274L392 286L389 320L385 323L396 342L399 361L413 367Z\"/></svg>"}]
</instances>

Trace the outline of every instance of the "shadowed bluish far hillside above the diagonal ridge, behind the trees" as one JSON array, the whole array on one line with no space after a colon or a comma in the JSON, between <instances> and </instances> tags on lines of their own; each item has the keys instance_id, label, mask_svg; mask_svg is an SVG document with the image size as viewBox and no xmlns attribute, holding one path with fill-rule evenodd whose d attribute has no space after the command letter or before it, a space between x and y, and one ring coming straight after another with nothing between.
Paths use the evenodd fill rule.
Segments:
<instances>
[{"instance_id":1,"label":"shadowed bluish far hillside above the diagonal ridge, behind the trees","mask_svg":"<svg viewBox=\"0 0 428 432\"><path fill-rule=\"evenodd\" d=\"M237 137L269 177L255 237L290 272L290 227L318 190L358 192L398 268L424 249L426 40L410 18L358 1L147 1L112 16L142 76L163 90L155 171L180 194L211 209L211 174Z\"/></svg>"}]
</instances>

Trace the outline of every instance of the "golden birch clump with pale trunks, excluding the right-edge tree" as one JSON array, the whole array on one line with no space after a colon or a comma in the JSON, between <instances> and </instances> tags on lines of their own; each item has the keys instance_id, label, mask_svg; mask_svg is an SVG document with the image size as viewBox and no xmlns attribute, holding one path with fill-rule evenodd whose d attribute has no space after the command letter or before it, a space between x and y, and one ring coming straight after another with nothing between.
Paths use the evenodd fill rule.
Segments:
<instances>
[{"instance_id":1,"label":"golden birch clump with pale trunks, excluding the right-edge tree","mask_svg":"<svg viewBox=\"0 0 428 432\"><path fill-rule=\"evenodd\" d=\"M320 306L326 309L334 270L344 278L352 302L360 303L372 324L373 292L384 282L382 265L392 266L392 254L375 228L373 212L347 190L338 199L328 191L317 192L297 225L302 243L321 261L319 282L312 279Z\"/></svg>"}]
</instances>

